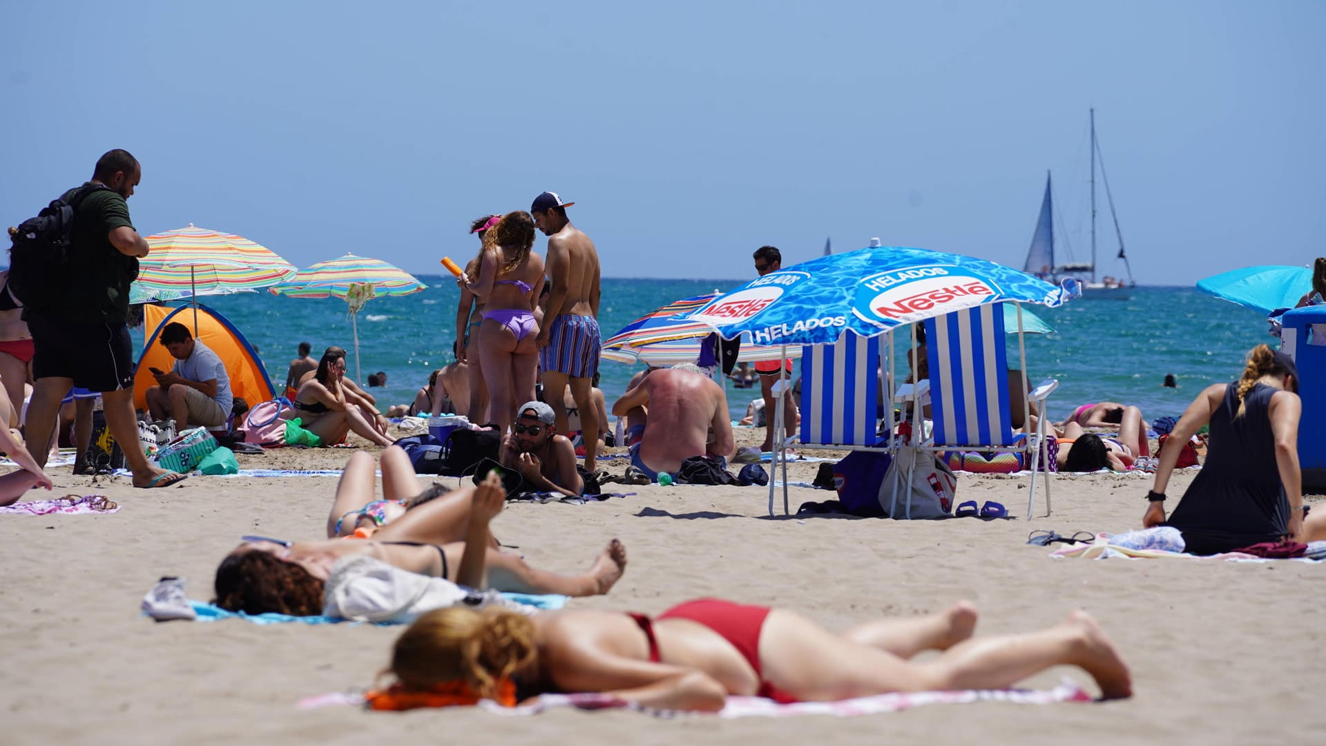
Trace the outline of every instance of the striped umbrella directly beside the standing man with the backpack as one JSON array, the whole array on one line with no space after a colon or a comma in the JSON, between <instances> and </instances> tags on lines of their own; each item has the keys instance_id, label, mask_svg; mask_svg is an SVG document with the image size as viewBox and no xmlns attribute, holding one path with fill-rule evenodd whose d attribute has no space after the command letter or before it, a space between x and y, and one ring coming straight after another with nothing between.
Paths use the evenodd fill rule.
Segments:
<instances>
[{"instance_id":1,"label":"striped umbrella directly beside the standing man with the backpack","mask_svg":"<svg viewBox=\"0 0 1326 746\"><path fill-rule=\"evenodd\" d=\"M147 256L138 260L130 303L192 300L198 331L198 296L255 292L288 280L298 269L272 250L244 236L199 228L192 223L146 238Z\"/></svg>"}]
</instances>

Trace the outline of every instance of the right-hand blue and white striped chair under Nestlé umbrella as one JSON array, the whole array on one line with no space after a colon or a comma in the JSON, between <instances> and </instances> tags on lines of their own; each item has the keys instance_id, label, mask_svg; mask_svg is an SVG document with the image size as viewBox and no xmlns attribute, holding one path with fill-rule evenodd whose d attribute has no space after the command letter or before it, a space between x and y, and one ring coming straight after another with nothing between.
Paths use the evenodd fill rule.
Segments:
<instances>
[{"instance_id":1,"label":"right-hand blue and white striped chair under Nestl\u00e9 umbrella","mask_svg":"<svg viewBox=\"0 0 1326 746\"><path fill-rule=\"evenodd\" d=\"M1026 348L1018 333L1021 369L1026 370ZM920 445L935 451L1017 453L1032 471L1026 515L1036 504L1036 481L1041 462L1049 458L1046 418L1028 435L1013 434L1009 402L1008 353L1004 313L998 304L983 304L926 320L926 352L930 364L930 406L934 419L931 437ZM1022 422L1030 417L1030 404L1045 413L1045 400L1058 388L1042 381L1022 402ZM1045 512L1050 511L1050 481L1045 475Z\"/></svg>"}]
</instances>

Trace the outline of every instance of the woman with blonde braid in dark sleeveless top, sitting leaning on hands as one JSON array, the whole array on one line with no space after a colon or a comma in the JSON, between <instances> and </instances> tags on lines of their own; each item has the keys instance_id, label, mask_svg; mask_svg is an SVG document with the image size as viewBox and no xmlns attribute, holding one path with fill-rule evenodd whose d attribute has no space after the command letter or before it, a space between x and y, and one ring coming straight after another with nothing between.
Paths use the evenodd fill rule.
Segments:
<instances>
[{"instance_id":1,"label":"woman with blonde braid in dark sleeveless top, sitting leaning on hands","mask_svg":"<svg viewBox=\"0 0 1326 746\"><path fill-rule=\"evenodd\" d=\"M1262 542L1326 539L1326 514L1307 518L1298 470L1298 369L1257 345L1242 377L1207 386L1160 449L1142 524L1172 526L1187 551L1213 555ZM1166 520L1164 488L1183 445L1211 423L1207 462Z\"/></svg>"}]
</instances>

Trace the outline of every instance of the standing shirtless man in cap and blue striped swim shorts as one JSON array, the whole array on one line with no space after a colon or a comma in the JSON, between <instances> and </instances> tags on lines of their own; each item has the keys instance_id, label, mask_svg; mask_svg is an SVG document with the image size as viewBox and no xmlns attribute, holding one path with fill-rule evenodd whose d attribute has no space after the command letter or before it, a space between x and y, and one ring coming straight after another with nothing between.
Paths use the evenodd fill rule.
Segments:
<instances>
[{"instance_id":1,"label":"standing shirtless man in cap and blue striped swim shorts","mask_svg":"<svg viewBox=\"0 0 1326 746\"><path fill-rule=\"evenodd\" d=\"M568 384L581 411L586 433L598 431L598 410L590 397L590 381L598 372L602 338L598 332L598 251L594 242L566 219L566 208L556 192L534 198L529 212L534 226L548 236L548 275L552 291L544 320L538 324L538 362L544 369L544 390L561 392ZM557 415L557 431L565 433L566 405L562 397L548 397ZM585 442L585 469L594 471L597 441Z\"/></svg>"}]
</instances>

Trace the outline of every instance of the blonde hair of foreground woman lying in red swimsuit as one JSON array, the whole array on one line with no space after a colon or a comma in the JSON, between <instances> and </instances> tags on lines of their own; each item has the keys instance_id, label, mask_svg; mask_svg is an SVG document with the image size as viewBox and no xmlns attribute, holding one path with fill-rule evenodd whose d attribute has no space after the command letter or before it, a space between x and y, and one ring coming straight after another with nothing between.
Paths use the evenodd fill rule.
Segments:
<instances>
[{"instance_id":1,"label":"blonde hair of foreground woman lying in red swimsuit","mask_svg":"<svg viewBox=\"0 0 1326 746\"><path fill-rule=\"evenodd\" d=\"M456 680L495 698L500 682L536 665L534 623L507 609L451 607L410 625L391 650L391 673L406 689L426 692Z\"/></svg>"}]
</instances>

